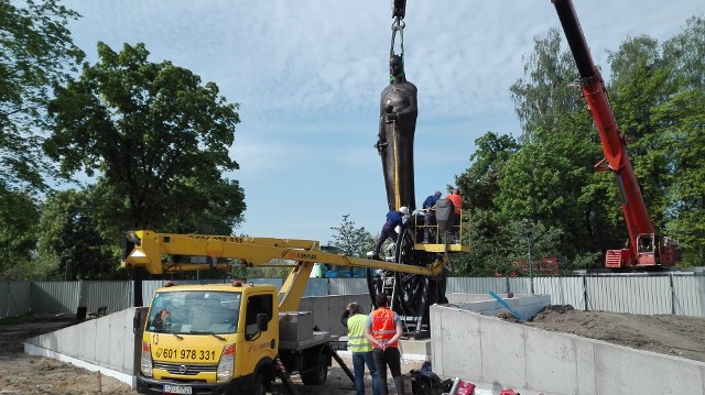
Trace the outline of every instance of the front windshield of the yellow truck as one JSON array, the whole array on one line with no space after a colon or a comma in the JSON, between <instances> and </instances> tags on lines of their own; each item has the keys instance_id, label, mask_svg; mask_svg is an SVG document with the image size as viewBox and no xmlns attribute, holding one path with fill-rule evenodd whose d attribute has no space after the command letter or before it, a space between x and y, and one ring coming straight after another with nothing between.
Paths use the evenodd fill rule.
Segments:
<instances>
[{"instance_id":1,"label":"front windshield of the yellow truck","mask_svg":"<svg viewBox=\"0 0 705 395\"><path fill-rule=\"evenodd\" d=\"M176 290L154 295L147 330L160 333L232 333L240 299L235 292Z\"/></svg>"}]
</instances>

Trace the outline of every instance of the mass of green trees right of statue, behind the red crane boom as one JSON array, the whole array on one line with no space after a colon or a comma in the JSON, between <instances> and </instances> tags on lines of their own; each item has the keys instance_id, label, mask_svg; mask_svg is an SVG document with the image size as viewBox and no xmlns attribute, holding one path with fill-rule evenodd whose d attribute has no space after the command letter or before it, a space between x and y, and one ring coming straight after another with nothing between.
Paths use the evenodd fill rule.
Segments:
<instances>
[{"instance_id":1,"label":"mass of green trees right of statue, behind the red crane boom","mask_svg":"<svg viewBox=\"0 0 705 395\"><path fill-rule=\"evenodd\" d=\"M685 264L702 264L705 253L704 65L705 20L696 17L663 45L648 36L625 41L609 53L605 78L651 221L681 241ZM524 77L510 88L520 139L512 145L509 136L485 134L456 177L473 213L473 252L456 274L511 267L528 246L522 219L545 234L535 257L552 254L567 267L601 266L605 250L625 245L615 176L595 172L604 152L576 77L558 31L534 40Z\"/></svg>"}]
</instances>

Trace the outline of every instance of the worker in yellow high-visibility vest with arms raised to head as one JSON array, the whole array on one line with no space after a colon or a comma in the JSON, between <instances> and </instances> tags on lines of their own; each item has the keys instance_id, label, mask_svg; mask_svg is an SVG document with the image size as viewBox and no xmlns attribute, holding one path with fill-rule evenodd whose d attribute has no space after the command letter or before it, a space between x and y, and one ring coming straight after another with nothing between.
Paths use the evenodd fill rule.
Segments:
<instances>
[{"instance_id":1,"label":"worker in yellow high-visibility vest with arms raised to head","mask_svg":"<svg viewBox=\"0 0 705 395\"><path fill-rule=\"evenodd\" d=\"M365 395L365 365L372 376L372 395L380 395L377 366L372 360L372 344L365 337L367 316L364 312L362 306L354 301L343 312L340 322L348 328L348 350L352 353L356 395Z\"/></svg>"}]
</instances>

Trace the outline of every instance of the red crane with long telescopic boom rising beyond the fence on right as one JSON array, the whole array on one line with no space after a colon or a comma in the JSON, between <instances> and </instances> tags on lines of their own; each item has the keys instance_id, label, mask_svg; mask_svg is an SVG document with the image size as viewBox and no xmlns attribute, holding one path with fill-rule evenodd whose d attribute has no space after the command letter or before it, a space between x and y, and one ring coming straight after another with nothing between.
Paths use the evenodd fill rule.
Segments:
<instances>
[{"instance_id":1,"label":"red crane with long telescopic boom rising beyond the fence on right","mask_svg":"<svg viewBox=\"0 0 705 395\"><path fill-rule=\"evenodd\" d=\"M552 0L552 2L577 65L583 96L587 100L603 144L605 158L595 165L595 169L615 174L629 231L629 243L626 248L607 250L605 266L610 268L673 266L679 257L676 243L669 237L658 234L651 223L631 162L629 162L627 142L619 133L605 81L593 63L573 2L571 0Z\"/></svg>"}]
</instances>

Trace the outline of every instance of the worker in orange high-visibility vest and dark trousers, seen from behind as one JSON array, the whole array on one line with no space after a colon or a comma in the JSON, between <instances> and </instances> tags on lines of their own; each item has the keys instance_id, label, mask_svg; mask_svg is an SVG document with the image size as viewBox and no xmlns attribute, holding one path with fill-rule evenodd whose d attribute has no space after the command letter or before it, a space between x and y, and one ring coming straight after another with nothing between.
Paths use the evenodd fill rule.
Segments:
<instances>
[{"instance_id":1,"label":"worker in orange high-visibility vest and dark trousers, seen from behind","mask_svg":"<svg viewBox=\"0 0 705 395\"><path fill-rule=\"evenodd\" d=\"M387 366L394 378L397 394L404 395L404 381L401 376L401 352L399 338L403 333L401 317L388 306L387 294L375 297L377 309L370 312L365 327L365 337L372 343L372 359L377 365L377 381L381 395L389 394L387 387Z\"/></svg>"}]
</instances>

